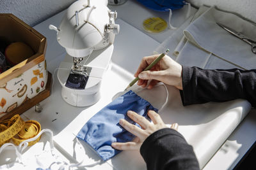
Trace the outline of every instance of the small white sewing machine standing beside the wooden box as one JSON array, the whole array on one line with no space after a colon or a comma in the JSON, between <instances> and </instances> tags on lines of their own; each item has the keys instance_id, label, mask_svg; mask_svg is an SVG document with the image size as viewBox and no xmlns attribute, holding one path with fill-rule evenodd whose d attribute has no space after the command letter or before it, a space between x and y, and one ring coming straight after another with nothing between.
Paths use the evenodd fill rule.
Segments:
<instances>
[{"instance_id":1,"label":"small white sewing machine standing beside the wooden box","mask_svg":"<svg viewBox=\"0 0 256 170\"><path fill-rule=\"evenodd\" d=\"M100 99L102 77L109 69L115 34L116 12L107 7L108 0L79 0L63 17L57 40L67 51L58 69L61 96L73 106L90 106Z\"/></svg>"}]
</instances>

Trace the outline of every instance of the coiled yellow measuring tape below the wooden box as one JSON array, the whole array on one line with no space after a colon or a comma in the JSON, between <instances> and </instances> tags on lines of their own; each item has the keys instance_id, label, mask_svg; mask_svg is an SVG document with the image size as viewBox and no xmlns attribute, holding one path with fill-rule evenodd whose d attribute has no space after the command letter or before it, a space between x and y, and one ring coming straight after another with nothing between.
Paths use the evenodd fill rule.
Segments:
<instances>
[{"instance_id":1,"label":"coiled yellow measuring tape below the wooden box","mask_svg":"<svg viewBox=\"0 0 256 170\"><path fill-rule=\"evenodd\" d=\"M12 139L15 145L22 141L35 137L41 131L41 125L36 120L24 122L20 115L14 115L10 120L0 122L0 146ZM30 141L28 146L34 145L40 140Z\"/></svg>"}]
</instances>

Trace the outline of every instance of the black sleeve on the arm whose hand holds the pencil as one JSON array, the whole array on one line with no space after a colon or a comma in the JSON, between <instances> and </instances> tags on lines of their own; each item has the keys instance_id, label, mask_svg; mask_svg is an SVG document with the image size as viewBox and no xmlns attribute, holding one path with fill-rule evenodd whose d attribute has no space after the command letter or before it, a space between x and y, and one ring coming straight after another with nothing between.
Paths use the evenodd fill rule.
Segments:
<instances>
[{"instance_id":1,"label":"black sleeve on the arm whose hand holds the pencil","mask_svg":"<svg viewBox=\"0 0 256 170\"><path fill-rule=\"evenodd\" d=\"M256 106L256 69L200 69L182 66L180 96L189 104L246 99Z\"/></svg>"}]
</instances>

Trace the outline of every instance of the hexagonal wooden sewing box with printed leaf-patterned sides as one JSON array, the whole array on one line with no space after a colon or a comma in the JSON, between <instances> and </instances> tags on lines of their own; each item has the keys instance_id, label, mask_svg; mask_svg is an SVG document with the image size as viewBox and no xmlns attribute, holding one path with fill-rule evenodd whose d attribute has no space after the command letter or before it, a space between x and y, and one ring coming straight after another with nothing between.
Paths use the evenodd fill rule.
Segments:
<instances>
[{"instance_id":1,"label":"hexagonal wooden sewing box with printed leaf-patterned sides","mask_svg":"<svg viewBox=\"0 0 256 170\"><path fill-rule=\"evenodd\" d=\"M0 74L0 121L21 114L50 95L46 38L12 14L0 14L0 37L29 45L34 54Z\"/></svg>"}]
</instances>

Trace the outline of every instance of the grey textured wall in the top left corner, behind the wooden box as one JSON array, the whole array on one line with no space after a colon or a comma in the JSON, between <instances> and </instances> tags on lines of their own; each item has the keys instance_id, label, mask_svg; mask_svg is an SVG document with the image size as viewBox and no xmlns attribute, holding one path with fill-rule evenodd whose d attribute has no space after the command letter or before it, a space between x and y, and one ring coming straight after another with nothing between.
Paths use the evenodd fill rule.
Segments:
<instances>
[{"instance_id":1,"label":"grey textured wall in the top left corner, behind the wooden box","mask_svg":"<svg viewBox=\"0 0 256 170\"><path fill-rule=\"evenodd\" d=\"M64 10L75 0L0 0L0 13L13 13L34 26Z\"/></svg>"}]
</instances>

